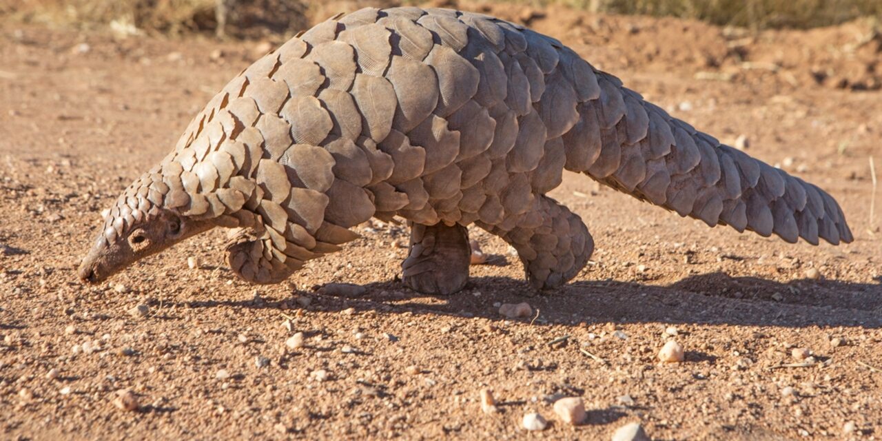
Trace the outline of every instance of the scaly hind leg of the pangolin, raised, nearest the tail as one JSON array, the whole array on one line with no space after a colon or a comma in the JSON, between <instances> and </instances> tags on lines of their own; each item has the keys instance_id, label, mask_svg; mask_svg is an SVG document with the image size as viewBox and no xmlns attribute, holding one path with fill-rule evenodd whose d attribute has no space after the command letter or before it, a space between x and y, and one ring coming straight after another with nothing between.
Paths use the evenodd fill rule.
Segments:
<instances>
[{"instance_id":1,"label":"scaly hind leg of the pangolin, raised, nearest the tail","mask_svg":"<svg viewBox=\"0 0 882 441\"><path fill-rule=\"evenodd\" d=\"M545 195L536 195L533 209L513 228L485 229L518 251L527 281L536 289L557 288L571 280L594 252L594 240L581 218Z\"/></svg>"}]
</instances>

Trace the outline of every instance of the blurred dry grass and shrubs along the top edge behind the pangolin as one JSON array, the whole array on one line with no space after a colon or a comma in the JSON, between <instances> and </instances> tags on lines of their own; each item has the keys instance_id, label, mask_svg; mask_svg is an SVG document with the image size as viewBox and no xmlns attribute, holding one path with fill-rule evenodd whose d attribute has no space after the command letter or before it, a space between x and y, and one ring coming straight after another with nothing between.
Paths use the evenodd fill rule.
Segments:
<instances>
[{"instance_id":1,"label":"blurred dry grass and shrubs along the top edge behind the pangolin","mask_svg":"<svg viewBox=\"0 0 882 441\"><path fill-rule=\"evenodd\" d=\"M419 0L402 1L421 3ZM535 7L565 4L592 12L673 16L753 29L829 26L858 17L875 17L882 21L882 0L490 1ZM117 32L131 34L215 32L219 18L226 17L227 34L255 37L287 34L308 27L310 9L321 8L327 3L326 0L221 0L221 5L228 4L228 12L219 15L219 0L0 0L0 16L50 26L88 28L109 25ZM396 0L377 0L376 3L388 5Z\"/></svg>"}]
</instances>

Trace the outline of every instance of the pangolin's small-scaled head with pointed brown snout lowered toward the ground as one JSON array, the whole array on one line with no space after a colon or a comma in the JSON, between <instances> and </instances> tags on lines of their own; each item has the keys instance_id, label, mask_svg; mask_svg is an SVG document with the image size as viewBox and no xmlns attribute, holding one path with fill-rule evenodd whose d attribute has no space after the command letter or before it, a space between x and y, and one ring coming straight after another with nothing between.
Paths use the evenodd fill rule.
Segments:
<instances>
[{"instance_id":1,"label":"pangolin's small-scaled head with pointed brown snout lowered toward the ground","mask_svg":"<svg viewBox=\"0 0 882 441\"><path fill-rule=\"evenodd\" d=\"M81 280L106 280L141 258L213 227L211 221L193 220L163 206L164 195L150 193L157 187L152 183L151 176L142 176L116 199L92 250L79 265Z\"/></svg>"}]
</instances>

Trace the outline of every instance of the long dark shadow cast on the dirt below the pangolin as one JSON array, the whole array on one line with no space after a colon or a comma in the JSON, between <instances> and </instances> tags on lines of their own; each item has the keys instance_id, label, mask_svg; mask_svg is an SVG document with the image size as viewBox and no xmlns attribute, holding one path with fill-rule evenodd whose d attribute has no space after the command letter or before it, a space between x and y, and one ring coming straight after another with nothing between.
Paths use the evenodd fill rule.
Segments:
<instances>
[{"instance_id":1,"label":"long dark shadow cast on the dirt below the pangolin","mask_svg":"<svg viewBox=\"0 0 882 441\"><path fill-rule=\"evenodd\" d=\"M536 294L523 280L475 277L455 295L422 295L399 280L364 285L358 297L302 293L314 297L310 309L325 312L354 308L381 314L410 312L459 318L498 320L500 303L527 302L538 318L519 318L533 325L582 323L663 323L759 325L782 327L882 327L882 286L839 280L792 280L781 283L755 277L706 273L654 286L620 280L577 280ZM188 303L191 307L281 308L291 298Z\"/></svg>"}]
</instances>

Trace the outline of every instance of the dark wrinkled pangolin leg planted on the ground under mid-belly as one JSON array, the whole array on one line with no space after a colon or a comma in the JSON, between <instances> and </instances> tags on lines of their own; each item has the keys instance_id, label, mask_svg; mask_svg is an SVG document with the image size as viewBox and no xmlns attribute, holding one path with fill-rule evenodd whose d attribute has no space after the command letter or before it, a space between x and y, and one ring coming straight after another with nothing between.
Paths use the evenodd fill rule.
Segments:
<instances>
[{"instance_id":1,"label":"dark wrinkled pangolin leg planted on the ground under mid-belly","mask_svg":"<svg viewBox=\"0 0 882 441\"><path fill-rule=\"evenodd\" d=\"M466 286L471 248L468 230L444 222L410 225L410 254L401 264L404 284L425 294L453 294Z\"/></svg>"}]
</instances>

